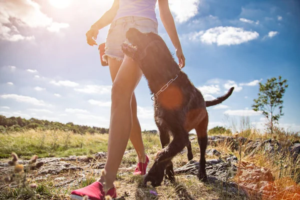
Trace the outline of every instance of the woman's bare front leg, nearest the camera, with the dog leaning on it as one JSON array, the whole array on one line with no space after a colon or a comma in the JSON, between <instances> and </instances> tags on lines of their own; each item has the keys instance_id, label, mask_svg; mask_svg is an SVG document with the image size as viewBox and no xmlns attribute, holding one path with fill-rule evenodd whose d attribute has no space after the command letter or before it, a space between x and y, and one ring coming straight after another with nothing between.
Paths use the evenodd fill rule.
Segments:
<instances>
[{"instance_id":1,"label":"woman's bare front leg, nearest the camera, with the dog leaning on it","mask_svg":"<svg viewBox=\"0 0 300 200\"><path fill-rule=\"evenodd\" d=\"M111 63L111 59L108 58L108 63ZM141 75L136 63L125 56L112 84L107 159L104 166L106 173L99 179L102 184L105 182L106 188L113 187L128 143L132 127L131 98Z\"/></svg>"}]
</instances>

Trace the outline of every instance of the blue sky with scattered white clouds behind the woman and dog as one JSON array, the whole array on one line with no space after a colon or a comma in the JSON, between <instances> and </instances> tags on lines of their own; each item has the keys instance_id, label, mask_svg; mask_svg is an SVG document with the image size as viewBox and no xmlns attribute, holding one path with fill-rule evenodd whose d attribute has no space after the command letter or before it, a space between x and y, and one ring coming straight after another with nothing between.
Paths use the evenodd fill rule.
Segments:
<instances>
[{"instance_id":1,"label":"blue sky with scattered white clouds behind the woman and dog","mask_svg":"<svg viewBox=\"0 0 300 200\"><path fill-rule=\"evenodd\" d=\"M0 0L0 114L109 126L111 79L85 32L112 0ZM210 100L209 128L249 116L258 82L288 79L280 127L300 130L300 3L297 0L169 0L182 49L183 71ZM158 18L158 32L174 48ZM108 26L99 31L105 41ZM142 129L156 129L144 78L136 90Z\"/></svg>"}]
</instances>

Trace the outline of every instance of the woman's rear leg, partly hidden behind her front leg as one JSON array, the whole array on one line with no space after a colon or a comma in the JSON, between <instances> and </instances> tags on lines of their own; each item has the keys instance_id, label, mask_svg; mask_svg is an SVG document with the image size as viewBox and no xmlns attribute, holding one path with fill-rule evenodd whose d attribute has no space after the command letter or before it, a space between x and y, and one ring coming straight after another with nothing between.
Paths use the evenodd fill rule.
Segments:
<instances>
[{"instance_id":1,"label":"woman's rear leg, partly hidden behind her front leg","mask_svg":"<svg viewBox=\"0 0 300 200\"><path fill-rule=\"evenodd\" d=\"M110 76L111 76L111 80L113 82L115 79L115 76L120 68L122 61L108 58L108 62L109 62ZM132 98L131 98L131 113L132 113L132 127L131 127L131 131L130 131L129 139L137 153L138 162L145 162L146 154L145 154L145 150L144 150L144 146L143 146L143 142L142 142L142 138L141 138L140 124L139 124L139 121L137 118L137 104L136 104L136 98L135 98L134 92L133 92Z\"/></svg>"}]
</instances>

